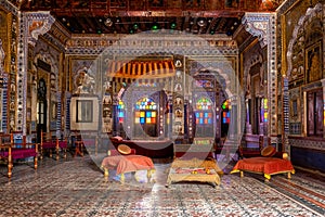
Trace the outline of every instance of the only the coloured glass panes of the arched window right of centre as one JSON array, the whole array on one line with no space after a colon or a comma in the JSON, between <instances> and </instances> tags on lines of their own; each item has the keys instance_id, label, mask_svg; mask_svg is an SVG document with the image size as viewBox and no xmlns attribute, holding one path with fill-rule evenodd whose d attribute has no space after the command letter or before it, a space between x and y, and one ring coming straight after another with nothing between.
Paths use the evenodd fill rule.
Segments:
<instances>
[{"instance_id":1,"label":"only the coloured glass panes of the arched window right of centre","mask_svg":"<svg viewBox=\"0 0 325 217\"><path fill-rule=\"evenodd\" d=\"M211 125L212 124L212 102L207 98L200 98L196 102L196 125Z\"/></svg>"}]
</instances>

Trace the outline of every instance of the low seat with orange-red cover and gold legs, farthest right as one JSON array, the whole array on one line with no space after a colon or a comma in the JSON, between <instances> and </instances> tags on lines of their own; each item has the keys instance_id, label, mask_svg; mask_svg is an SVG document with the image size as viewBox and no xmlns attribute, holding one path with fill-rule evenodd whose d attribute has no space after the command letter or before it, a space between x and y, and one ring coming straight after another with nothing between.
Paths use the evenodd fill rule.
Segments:
<instances>
[{"instance_id":1,"label":"low seat with orange-red cover and gold legs, farthest right","mask_svg":"<svg viewBox=\"0 0 325 217\"><path fill-rule=\"evenodd\" d=\"M264 156L239 159L231 174L240 173L240 177L244 177L244 171L263 174L266 181L271 179L272 175L287 174L287 178L290 179L290 175L295 174L290 161Z\"/></svg>"}]
</instances>

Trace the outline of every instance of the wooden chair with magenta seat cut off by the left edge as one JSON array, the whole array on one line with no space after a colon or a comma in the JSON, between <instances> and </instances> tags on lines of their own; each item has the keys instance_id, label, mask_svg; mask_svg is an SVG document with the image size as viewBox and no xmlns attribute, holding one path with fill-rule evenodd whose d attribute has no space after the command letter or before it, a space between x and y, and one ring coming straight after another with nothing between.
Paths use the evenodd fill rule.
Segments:
<instances>
[{"instance_id":1,"label":"wooden chair with magenta seat cut off by the left edge","mask_svg":"<svg viewBox=\"0 0 325 217\"><path fill-rule=\"evenodd\" d=\"M38 143L14 143L13 133L0 135L0 159L8 165L8 177L12 177L13 161L34 157L34 168L37 169ZM18 146L18 148L17 148Z\"/></svg>"}]
</instances>

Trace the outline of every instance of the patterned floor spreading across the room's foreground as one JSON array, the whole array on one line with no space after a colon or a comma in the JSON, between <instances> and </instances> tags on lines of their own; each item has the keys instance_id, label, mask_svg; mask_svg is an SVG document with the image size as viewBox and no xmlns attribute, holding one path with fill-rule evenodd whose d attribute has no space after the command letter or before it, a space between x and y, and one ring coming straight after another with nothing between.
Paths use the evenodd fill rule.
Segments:
<instances>
[{"instance_id":1,"label":"patterned floor spreading across the room's foreground","mask_svg":"<svg viewBox=\"0 0 325 217\"><path fill-rule=\"evenodd\" d=\"M262 176L223 175L221 184L174 183L166 188L169 163L156 161L156 182L107 180L102 157L46 157L16 164L11 180L0 166L0 216L324 216L324 178L297 171L263 182ZM158 162L158 163L157 163Z\"/></svg>"}]
</instances>

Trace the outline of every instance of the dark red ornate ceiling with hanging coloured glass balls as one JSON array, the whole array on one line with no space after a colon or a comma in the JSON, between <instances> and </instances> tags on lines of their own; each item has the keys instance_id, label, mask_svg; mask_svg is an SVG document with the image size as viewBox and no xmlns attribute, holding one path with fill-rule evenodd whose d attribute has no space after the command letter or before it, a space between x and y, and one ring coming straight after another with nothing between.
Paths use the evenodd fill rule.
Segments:
<instances>
[{"instance_id":1,"label":"dark red ornate ceiling with hanging coloured glass balls","mask_svg":"<svg viewBox=\"0 0 325 217\"><path fill-rule=\"evenodd\" d=\"M272 11L271 0L11 0L22 11L50 11L72 34L167 29L231 36L245 12ZM271 4L266 4L270 2Z\"/></svg>"}]
</instances>

